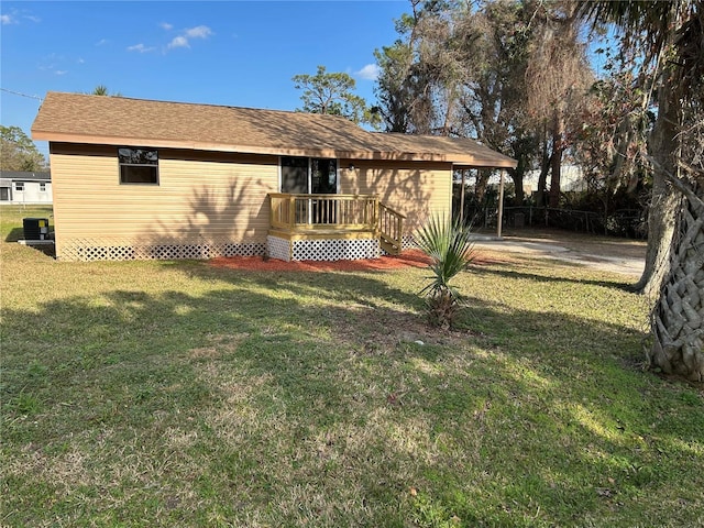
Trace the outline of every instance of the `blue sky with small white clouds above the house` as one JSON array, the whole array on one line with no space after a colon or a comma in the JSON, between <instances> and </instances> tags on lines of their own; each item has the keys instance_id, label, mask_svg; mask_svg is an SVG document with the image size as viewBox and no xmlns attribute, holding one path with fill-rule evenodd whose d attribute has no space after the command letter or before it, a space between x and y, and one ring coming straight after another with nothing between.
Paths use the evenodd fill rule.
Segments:
<instances>
[{"instance_id":1,"label":"blue sky with small white clouds above the house","mask_svg":"<svg viewBox=\"0 0 704 528\"><path fill-rule=\"evenodd\" d=\"M374 50L404 0L0 3L0 122L28 135L47 91L294 110L290 80L346 72L373 100ZM46 153L46 144L37 142Z\"/></svg>"}]
</instances>

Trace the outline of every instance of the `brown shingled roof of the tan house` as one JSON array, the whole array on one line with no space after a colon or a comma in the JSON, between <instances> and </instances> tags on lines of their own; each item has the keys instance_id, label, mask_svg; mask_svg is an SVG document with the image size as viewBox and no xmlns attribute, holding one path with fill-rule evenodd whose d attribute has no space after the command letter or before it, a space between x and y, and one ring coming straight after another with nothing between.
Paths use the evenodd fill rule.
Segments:
<instances>
[{"instance_id":1,"label":"brown shingled roof of the tan house","mask_svg":"<svg viewBox=\"0 0 704 528\"><path fill-rule=\"evenodd\" d=\"M369 132L338 116L48 92L32 138L65 143L133 145L356 160L450 162L515 167L473 140Z\"/></svg>"}]
</instances>

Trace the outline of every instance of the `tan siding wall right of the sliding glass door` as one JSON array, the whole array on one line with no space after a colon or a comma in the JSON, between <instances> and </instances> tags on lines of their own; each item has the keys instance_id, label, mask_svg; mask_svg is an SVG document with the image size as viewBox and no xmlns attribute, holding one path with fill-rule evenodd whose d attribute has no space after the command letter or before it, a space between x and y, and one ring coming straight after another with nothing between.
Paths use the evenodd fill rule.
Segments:
<instances>
[{"instance_id":1,"label":"tan siding wall right of the sliding glass door","mask_svg":"<svg viewBox=\"0 0 704 528\"><path fill-rule=\"evenodd\" d=\"M354 170L348 168L350 164ZM378 195L383 204L407 217L404 230L408 234L432 215L451 216L452 165L449 163L341 160L340 167L340 193Z\"/></svg>"}]
</instances>

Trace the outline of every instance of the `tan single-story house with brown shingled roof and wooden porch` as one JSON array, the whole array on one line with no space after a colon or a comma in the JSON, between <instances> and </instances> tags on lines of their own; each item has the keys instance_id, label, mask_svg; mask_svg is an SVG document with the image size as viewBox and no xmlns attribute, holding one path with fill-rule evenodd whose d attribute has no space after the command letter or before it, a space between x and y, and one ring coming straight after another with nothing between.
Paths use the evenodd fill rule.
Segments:
<instances>
[{"instance_id":1,"label":"tan single-story house with brown shingled roof and wooden porch","mask_svg":"<svg viewBox=\"0 0 704 528\"><path fill-rule=\"evenodd\" d=\"M78 94L47 94L32 136L59 260L376 257L450 216L453 169L516 165L337 116Z\"/></svg>"}]
</instances>

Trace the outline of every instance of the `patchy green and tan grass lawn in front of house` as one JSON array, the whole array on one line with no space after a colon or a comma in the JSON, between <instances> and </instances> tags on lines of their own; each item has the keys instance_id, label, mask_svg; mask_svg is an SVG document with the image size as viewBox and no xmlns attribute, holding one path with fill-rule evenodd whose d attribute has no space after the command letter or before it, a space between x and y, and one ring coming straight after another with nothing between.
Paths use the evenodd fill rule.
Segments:
<instances>
[{"instance_id":1,"label":"patchy green and tan grass lawn in front of house","mask_svg":"<svg viewBox=\"0 0 704 528\"><path fill-rule=\"evenodd\" d=\"M703 396L620 275L475 264L440 332L425 270L1 251L2 526L704 526Z\"/></svg>"}]
</instances>

